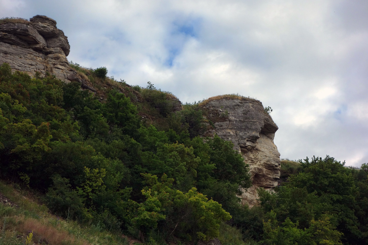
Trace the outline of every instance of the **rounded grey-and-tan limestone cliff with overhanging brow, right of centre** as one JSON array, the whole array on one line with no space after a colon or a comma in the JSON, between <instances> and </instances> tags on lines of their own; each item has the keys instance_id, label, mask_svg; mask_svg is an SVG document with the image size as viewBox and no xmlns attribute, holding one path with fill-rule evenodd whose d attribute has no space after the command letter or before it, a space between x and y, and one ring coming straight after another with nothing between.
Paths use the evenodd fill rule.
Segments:
<instances>
[{"instance_id":1,"label":"rounded grey-and-tan limestone cliff with overhanging brow, right of centre","mask_svg":"<svg viewBox=\"0 0 368 245\"><path fill-rule=\"evenodd\" d=\"M212 100L203 106L215 129L207 135L217 134L234 144L244 161L250 166L253 186L243 190L243 203L254 206L259 187L276 187L280 178L280 153L273 143L278 129L272 118L264 112L260 101L242 99Z\"/></svg>"}]
</instances>

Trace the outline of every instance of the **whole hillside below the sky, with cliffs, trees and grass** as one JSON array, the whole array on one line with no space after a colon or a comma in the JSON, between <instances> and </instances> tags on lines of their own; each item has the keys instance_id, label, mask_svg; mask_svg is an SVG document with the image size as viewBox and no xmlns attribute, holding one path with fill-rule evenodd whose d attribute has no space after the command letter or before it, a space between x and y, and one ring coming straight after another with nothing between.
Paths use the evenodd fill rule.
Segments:
<instances>
[{"instance_id":1,"label":"whole hillside below the sky, with cliffs, trees and grass","mask_svg":"<svg viewBox=\"0 0 368 245\"><path fill-rule=\"evenodd\" d=\"M182 105L69 48L48 17L0 21L0 244L367 243L367 164L280 162L260 101Z\"/></svg>"}]
</instances>

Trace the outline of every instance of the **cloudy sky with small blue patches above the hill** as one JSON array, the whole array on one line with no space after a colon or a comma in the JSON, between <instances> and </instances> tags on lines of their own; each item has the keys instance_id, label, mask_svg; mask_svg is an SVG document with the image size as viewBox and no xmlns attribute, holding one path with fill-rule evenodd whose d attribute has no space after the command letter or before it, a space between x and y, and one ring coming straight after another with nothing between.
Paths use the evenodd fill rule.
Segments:
<instances>
[{"instance_id":1,"label":"cloudy sky with small blue patches above the hill","mask_svg":"<svg viewBox=\"0 0 368 245\"><path fill-rule=\"evenodd\" d=\"M281 158L368 163L367 0L0 0L0 17L38 14L69 61L118 81L260 100Z\"/></svg>"}]
</instances>

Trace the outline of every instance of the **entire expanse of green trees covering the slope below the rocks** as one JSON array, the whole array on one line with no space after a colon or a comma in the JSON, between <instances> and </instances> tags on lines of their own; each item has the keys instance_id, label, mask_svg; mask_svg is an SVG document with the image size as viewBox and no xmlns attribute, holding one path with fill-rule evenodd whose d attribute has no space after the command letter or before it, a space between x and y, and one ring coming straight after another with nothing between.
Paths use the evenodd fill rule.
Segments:
<instances>
[{"instance_id":1,"label":"entire expanse of green trees covering the slope below the rocks","mask_svg":"<svg viewBox=\"0 0 368 245\"><path fill-rule=\"evenodd\" d=\"M102 83L106 73L89 76ZM367 164L289 161L286 182L259 190L260 205L249 209L237 197L251 185L248 166L230 142L198 137L201 108L173 113L152 83L133 89L131 97L106 89L100 102L77 82L1 65L0 177L43 192L57 215L151 244L230 233L229 244L368 243ZM159 125L142 122L149 110Z\"/></svg>"}]
</instances>

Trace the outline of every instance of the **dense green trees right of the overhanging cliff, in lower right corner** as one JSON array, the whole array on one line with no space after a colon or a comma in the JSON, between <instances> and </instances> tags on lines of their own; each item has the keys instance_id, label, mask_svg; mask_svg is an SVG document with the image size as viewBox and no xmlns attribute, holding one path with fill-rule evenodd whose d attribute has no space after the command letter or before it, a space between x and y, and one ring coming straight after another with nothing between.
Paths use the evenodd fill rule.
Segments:
<instances>
[{"instance_id":1,"label":"dense green trees right of the overhanging cliff, in lower right corner","mask_svg":"<svg viewBox=\"0 0 368 245\"><path fill-rule=\"evenodd\" d=\"M261 191L264 244L367 244L368 173L330 156L300 161L276 193Z\"/></svg>"}]
</instances>

